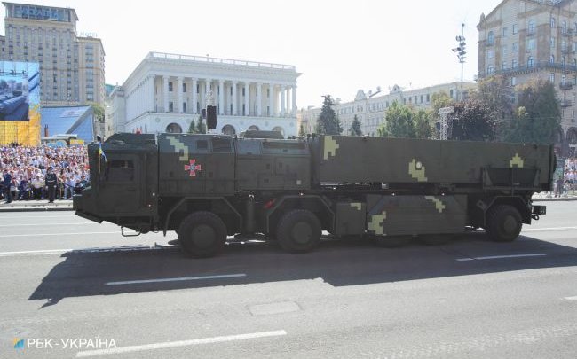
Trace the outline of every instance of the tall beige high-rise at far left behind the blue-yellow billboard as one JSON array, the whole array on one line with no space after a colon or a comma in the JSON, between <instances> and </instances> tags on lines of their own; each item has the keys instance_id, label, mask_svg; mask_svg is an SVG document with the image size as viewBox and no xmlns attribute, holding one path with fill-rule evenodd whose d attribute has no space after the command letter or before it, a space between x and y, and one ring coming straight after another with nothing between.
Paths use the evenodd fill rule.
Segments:
<instances>
[{"instance_id":1,"label":"tall beige high-rise at far left behind the blue-yellow billboard","mask_svg":"<svg viewBox=\"0 0 577 359\"><path fill-rule=\"evenodd\" d=\"M41 105L104 105L104 48L99 38L76 34L75 10L3 4L0 59L40 63Z\"/></svg>"}]
</instances>

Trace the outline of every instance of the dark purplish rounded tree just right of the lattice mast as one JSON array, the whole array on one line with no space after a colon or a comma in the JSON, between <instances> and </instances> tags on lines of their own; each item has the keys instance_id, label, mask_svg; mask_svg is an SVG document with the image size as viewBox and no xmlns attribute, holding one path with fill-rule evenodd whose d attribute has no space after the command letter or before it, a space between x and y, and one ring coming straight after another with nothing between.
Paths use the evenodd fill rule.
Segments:
<instances>
[{"instance_id":1,"label":"dark purplish rounded tree just right of the lattice mast","mask_svg":"<svg viewBox=\"0 0 577 359\"><path fill-rule=\"evenodd\" d=\"M454 105L451 139L494 141L496 120L482 102L469 98Z\"/></svg>"}]
</instances>

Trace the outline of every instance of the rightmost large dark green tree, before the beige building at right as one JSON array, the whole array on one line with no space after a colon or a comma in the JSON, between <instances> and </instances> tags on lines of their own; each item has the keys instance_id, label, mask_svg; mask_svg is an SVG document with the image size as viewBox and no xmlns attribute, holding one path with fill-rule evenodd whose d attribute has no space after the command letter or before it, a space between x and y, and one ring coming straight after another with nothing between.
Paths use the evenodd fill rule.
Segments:
<instances>
[{"instance_id":1,"label":"rightmost large dark green tree, before the beige building at right","mask_svg":"<svg viewBox=\"0 0 577 359\"><path fill-rule=\"evenodd\" d=\"M561 123L561 110L553 83L526 82L518 88L518 108L511 121L507 140L544 144L555 141Z\"/></svg>"}]
</instances>

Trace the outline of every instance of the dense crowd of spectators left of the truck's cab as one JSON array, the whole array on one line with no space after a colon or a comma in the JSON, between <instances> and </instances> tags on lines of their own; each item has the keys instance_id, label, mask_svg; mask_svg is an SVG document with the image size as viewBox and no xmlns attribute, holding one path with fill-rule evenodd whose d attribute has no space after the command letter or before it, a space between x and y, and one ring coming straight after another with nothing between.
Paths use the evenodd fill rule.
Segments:
<instances>
[{"instance_id":1,"label":"dense crowd of spectators left of the truck's cab","mask_svg":"<svg viewBox=\"0 0 577 359\"><path fill-rule=\"evenodd\" d=\"M6 202L71 199L89 184L86 148L0 146L0 196Z\"/></svg>"}]
</instances>

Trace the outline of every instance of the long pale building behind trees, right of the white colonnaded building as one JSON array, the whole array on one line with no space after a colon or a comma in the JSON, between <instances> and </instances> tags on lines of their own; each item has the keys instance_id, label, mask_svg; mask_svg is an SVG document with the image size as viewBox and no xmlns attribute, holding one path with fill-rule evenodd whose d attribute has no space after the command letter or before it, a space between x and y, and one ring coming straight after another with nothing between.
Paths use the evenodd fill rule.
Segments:
<instances>
[{"instance_id":1,"label":"long pale building behind trees, right of the white colonnaded building","mask_svg":"<svg viewBox=\"0 0 577 359\"><path fill-rule=\"evenodd\" d=\"M416 110L427 110L432 106L432 95L438 92L446 92L448 96L455 100L464 98L470 90L477 87L475 82L449 82L423 89L403 90L399 85L394 85L388 94L382 94L380 88L375 92L358 90L354 100L342 103L336 98L335 112L341 121L343 135L349 135L354 116L360 121L360 130L363 135L375 137L376 130L383 125L385 114L393 102L402 105L410 105ZM305 133L312 133L320 115L320 107L308 108L298 113L299 124Z\"/></svg>"}]
</instances>

